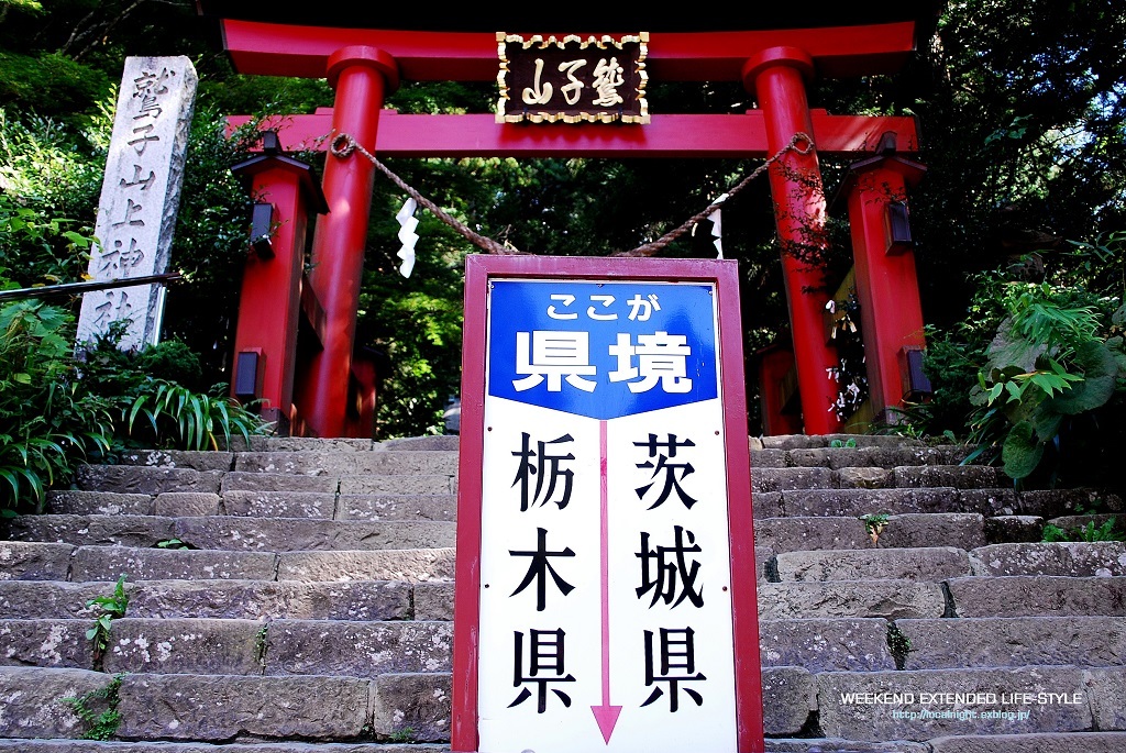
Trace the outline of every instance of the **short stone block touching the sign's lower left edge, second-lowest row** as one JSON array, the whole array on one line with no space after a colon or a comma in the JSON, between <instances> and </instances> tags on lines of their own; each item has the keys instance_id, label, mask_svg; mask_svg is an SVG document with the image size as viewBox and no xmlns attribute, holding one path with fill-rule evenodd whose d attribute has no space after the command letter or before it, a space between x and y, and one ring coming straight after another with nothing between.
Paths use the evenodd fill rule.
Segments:
<instances>
[{"instance_id":1,"label":"short stone block touching the sign's lower left edge, second-lowest row","mask_svg":"<svg viewBox=\"0 0 1126 753\"><path fill-rule=\"evenodd\" d=\"M372 685L372 729L376 735L409 733L419 742L449 739L449 674L384 674Z\"/></svg>"}]
</instances>

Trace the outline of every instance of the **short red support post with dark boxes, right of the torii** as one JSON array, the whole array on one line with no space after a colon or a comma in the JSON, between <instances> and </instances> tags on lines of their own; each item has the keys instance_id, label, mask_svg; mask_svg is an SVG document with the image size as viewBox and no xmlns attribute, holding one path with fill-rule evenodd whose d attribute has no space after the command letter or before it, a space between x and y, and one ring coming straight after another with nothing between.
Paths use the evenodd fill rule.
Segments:
<instances>
[{"instance_id":1,"label":"short red support post with dark boxes, right of the torii","mask_svg":"<svg viewBox=\"0 0 1126 753\"><path fill-rule=\"evenodd\" d=\"M841 186L848 199L856 296L877 420L895 423L904 402L930 385L921 374L926 347L919 280L906 214L906 189L927 168L895 155L885 136L877 156L855 162Z\"/></svg>"}]
</instances>

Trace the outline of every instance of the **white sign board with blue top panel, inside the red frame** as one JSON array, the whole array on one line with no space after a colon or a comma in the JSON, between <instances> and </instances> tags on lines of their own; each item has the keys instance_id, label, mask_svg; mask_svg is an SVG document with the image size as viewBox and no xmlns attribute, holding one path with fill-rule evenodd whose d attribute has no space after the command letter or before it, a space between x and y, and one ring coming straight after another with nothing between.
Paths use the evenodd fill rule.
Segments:
<instances>
[{"instance_id":1,"label":"white sign board with blue top panel, inside the red frame","mask_svg":"<svg viewBox=\"0 0 1126 753\"><path fill-rule=\"evenodd\" d=\"M740 750L717 297L490 279L482 753Z\"/></svg>"}]
</instances>

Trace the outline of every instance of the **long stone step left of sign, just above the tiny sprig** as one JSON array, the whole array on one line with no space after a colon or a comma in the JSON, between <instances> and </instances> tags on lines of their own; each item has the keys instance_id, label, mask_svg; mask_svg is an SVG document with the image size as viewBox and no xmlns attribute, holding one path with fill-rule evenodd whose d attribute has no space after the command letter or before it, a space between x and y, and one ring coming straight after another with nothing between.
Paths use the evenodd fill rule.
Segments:
<instances>
[{"instance_id":1,"label":"long stone step left of sign, just above the tiny sprig","mask_svg":"<svg viewBox=\"0 0 1126 753\"><path fill-rule=\"evenodd\" d=\"M24 516L10 521L14 540L154 547L177 541L197 549L291 552L453 546L450 521L338 521L206 516Z\"/></svg>"}]
</instances>

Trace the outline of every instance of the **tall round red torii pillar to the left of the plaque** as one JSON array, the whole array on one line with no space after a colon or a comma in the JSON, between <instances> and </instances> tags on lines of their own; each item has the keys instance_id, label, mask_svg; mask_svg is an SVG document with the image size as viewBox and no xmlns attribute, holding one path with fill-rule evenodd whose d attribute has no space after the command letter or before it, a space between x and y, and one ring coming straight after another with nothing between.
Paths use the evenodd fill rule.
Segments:
<instances>
[{"instance_id":1,"label":"tall round red torii pillar to the left of the plaque","mask_svg":"<svg viewBox=\"0 0 1126 753\"><path fill-rule=\"evenodd\" d=\"M329 56L327 73L337 90L333 134L347 134L374 154L379 108L384 96L399 86L395 60L375 47L348 46ZM322 186L329 214L316 226L311 275L324 310L324 339L302 385L302 404L309 406L309 433L361 436L364 430L347 414L375 165L358 151L330 153L325 159Z\"/></svg>"}]
</instances>

